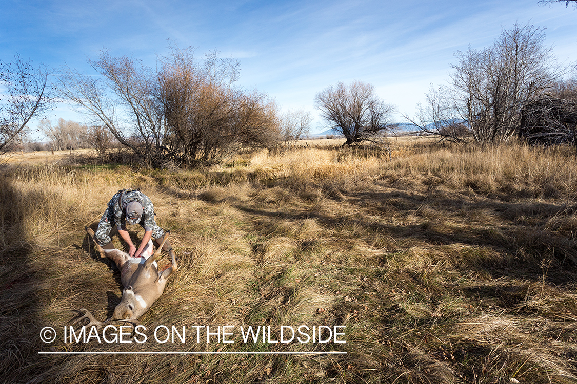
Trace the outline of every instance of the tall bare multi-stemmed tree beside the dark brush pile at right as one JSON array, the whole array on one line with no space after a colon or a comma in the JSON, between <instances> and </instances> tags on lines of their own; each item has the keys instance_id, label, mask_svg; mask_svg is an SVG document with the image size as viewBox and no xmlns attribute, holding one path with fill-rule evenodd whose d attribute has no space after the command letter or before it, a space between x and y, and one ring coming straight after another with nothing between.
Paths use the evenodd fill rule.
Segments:
<instances>
[{"instance_id":1,"label":"tall bare multi-stemmed tree beside the dark brush pile at right","mask_svg":"<svg viewBox=\"0 0 577 384\"><path fill-rule=\"evenodd\" d=\"M456 109L477 142L507 141L519 126L520 110L549 89L561 71L554 67L544 28L515 24L492 47L458 52L451 85Z\"/></svg>"}]
</instances>

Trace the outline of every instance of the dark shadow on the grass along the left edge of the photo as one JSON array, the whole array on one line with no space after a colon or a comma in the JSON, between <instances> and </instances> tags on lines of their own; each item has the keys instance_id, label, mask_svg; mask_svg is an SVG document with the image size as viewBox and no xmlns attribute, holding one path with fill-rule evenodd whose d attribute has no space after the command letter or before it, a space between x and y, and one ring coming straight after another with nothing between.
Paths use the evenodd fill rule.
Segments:
<instances>
[{"instance_id":1,"label":"dark shadow on the grass along the left edge of the photo","mask_svg":"<svg viewBox=\"0 0 577 384\"><path fill-rule=\"evenodd\" d=\"M0 176L1 177L1 176ZM31 199L32 197L32 199ZM43 303L38 299L46 267L33 263L33 246L24 222L33 214L31 207L23 206L33 201L33 196L22 196L8 177L0 178L0 382L43 382L50 376L51 358L39 355L52 343L40 340L40 331L58 327L42 317ZM47 268L48 269L48 268ZM45 335L50 337L50 332Z\"/></svg>"}]
</instances>

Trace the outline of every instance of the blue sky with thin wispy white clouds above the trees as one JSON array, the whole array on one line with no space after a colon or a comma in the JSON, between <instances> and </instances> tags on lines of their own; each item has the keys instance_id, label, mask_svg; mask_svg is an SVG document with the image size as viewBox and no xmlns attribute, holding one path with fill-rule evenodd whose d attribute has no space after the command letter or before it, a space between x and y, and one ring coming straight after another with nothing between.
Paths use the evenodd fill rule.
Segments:
<instances>
[{"instance_id":1,"label":"blue sky with thin wispy white clouds above the trees","mask_svg":"<svg viewBox=\"0 0 577 384\"><path fill-rule=\"evenodd\" d=\"M447 83L454 53L481 49L515 22L546 27L560 61L577 62L577 10L508 1L9 1L0 3L0 59L16 53L53 69L92 73L102 48L155 65L168 51L214 49L241 62L237 85L280 108L317 116L314 95L338 81L372 83L400 113L414 114L431 83ZM81 121L60 105L52 118ZM323 131L316 117L313 132Z\"/></svg>"}]
</instances>

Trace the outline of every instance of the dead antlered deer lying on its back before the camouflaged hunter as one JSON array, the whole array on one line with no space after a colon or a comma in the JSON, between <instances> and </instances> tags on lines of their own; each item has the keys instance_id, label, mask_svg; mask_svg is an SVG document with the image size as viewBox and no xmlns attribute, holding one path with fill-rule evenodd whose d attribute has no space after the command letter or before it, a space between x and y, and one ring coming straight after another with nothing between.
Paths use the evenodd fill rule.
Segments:
<instances>
[{"instance_id":1,"label":"dead antlered deer lying on its back before the camouflaged hunter","mask_svg":"<svg viewBox=\"0 0 577 384\"><path fill-rule=\"evenodd\" d=\"M158 273L158 264L155 261L170 232L166 232L163 242L156 252L152 253L154 248L151 239L144 248L142 257L130 257L128 253L119 249L103 249L98 245L98 242L94 241L94 231L88 227L86 231L92 238L100 257L110 258L120 269L120 280L124 290L122 291L122 299L114 309L114 314L111 318L104 322L98 321L87 309L83 308L80 309L80 314L84 313L84 315L77 318L73 324L77 324L83 319L88 319L88 326L96 325L98 328L110 321L129 322L133 325L140 324L138 318L162 295L168 277L178 269L174 253L172 253L173 265L160 273Z\"/></svg>"}]
</instances>

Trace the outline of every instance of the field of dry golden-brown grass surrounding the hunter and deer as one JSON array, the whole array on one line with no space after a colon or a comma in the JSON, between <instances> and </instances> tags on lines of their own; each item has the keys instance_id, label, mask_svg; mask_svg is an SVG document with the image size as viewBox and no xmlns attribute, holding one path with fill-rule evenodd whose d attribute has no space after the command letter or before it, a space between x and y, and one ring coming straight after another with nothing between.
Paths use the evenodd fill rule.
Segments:
<instances>
[{"instance_id":1,"label":"field of dry golden-brown grass surrounding the hunter and deer","mask_svg":"<svg viewBox=\"0 0 577 384\"><path fill-rule=\"evenodd\" d=\"M574 149L391 150L309 145L189 171L5 162L0 382L577 382ZM129 187L171 230L179 271L140 319L145 343L65 343L74 309L103 320L119 302L84 227ZM155 341L161 325L185 326L185 343ZM231 326L235 343L204 328L197 343L192 325ZM346 343L273 343L283 325L344 326ZM243 342L241 326L271 326L271 342Z\"/></svg>"}]
</instances>

